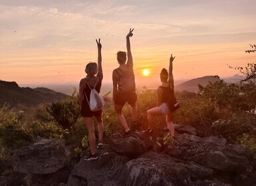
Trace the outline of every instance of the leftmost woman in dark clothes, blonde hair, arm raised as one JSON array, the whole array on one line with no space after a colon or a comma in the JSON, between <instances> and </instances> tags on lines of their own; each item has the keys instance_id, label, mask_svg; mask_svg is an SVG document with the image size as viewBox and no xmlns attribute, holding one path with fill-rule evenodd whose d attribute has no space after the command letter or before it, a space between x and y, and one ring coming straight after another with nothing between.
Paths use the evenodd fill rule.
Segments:
<instances>
[{"instance_id":1,"label":"leftmost woman in dark clothes, blonde hair, arm raised","mask_svg":"<svg viewBox=\"0 0 256 186\"><path fill-rule=\"evenodd\" d=\"M84 124L88 128L88 138L90 144L90 152L84 156L84 160L90 161L92 159L98 159L98 155L95 151L95 134L93 125L93 116L96 118L98 123L98 148L102 148L102 136L103 136L103 122L102 122L102 110L92 112L90 110L90 90L95 87L95 90L100 93L100 87L102 83L102 56L100 39L96 40L98 46L98 65L96 62L89 62L86 65L85 72L86 78L82 78L79 84L79 104L80 104L80 115L84 121ZM89 87L90 86L90 87ZM87 100L87 99L88 100Z\"/></svg>"}]
</instances>

